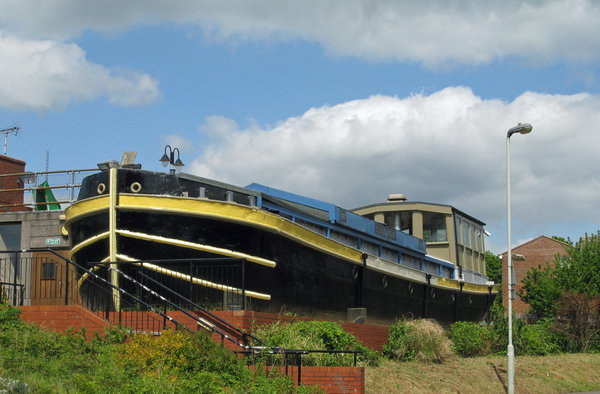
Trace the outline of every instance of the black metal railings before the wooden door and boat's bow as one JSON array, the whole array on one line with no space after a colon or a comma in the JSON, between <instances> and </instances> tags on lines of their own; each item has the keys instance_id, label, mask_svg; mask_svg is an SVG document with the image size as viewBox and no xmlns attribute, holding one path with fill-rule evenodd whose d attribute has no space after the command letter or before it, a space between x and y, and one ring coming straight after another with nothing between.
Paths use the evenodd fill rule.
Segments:
<instances>
[{"instance_id":1,"label":"black metal railings before the wooden door and boat's bow","mask_svg":"<svg viewBox=\"0 0 600 394\"><path fill-rule=\"evenodd\" d=\"M136 332L183 327L172 317L177 311L195 329L217 332L243 347L212 322L231 329L244 343L253 337L205 307L245 307L244 264L240 259L194 259L83 267L50 249L3 251L0 295L15 306L81 305L111 324ZM205 318L190 311L202 312Z\"/></svg>"}]
</instances>

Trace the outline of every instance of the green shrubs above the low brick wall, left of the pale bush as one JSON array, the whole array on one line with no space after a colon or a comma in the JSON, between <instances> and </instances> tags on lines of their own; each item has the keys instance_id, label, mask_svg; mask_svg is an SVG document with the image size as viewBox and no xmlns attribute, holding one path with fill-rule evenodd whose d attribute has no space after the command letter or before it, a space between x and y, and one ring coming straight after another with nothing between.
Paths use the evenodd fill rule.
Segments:
<instances>
[{"instance_id":1,"label":"green shrubs above the low brick wall, left of the pale bush","mask_svg":"<svg viewBox=\"0 0 600 394\"><path fill-rule=\"evenodd\" d=\"M257 337L267 347L290 350L361 350L358 363L376 365L379 359L377 352L363 346L354 335L344 331L341 325L328 321L280 321L268 326L257 327ZM265 355L264 361L273 364L279 357ZM347 366L352 365L352 354L310 353L302 356L302 365L311 366Z\"/></svg>"}]
</instances>

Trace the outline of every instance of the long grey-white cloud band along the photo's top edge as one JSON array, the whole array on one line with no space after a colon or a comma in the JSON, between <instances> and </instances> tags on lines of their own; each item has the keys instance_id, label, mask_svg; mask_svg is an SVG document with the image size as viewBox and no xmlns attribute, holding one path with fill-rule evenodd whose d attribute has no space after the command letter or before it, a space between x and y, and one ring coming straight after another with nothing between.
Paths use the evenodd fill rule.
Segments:
<instances>
[{"instance_id":1,"label":"long grey-white cloud band along the photo's top edge","mask_svg":"<svg viewBox=\"0 0 600 394\"><path fill-rule=\"evenodd\" d=\"M339 55L434 68L513 57L579 63L597 59L600 50L600 4L593 0L0 0L0 11L0 25L35 38L187 23L212 38L303 38Z\"/></svg>"}]
</instances>

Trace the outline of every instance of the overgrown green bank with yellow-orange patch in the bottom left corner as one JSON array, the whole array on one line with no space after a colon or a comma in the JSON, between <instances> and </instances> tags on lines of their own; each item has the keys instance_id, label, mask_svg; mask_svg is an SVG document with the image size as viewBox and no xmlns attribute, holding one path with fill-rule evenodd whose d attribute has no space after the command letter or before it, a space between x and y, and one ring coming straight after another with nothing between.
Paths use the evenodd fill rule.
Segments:
<instances>
[{"instance_id":1,"label":"overgrown green bank with yellow-orange patch in the bottom left corner","mask_svg":"<svg viewBox=\"0 0 600 394\"><path fill-rule=\"evenodd\" d=\"M0 303L0 392L311 392L287 376L253 376L203 333L111 329L88 340L85 329L25 324L15 310Z\"/></svg>"}]
</instances>

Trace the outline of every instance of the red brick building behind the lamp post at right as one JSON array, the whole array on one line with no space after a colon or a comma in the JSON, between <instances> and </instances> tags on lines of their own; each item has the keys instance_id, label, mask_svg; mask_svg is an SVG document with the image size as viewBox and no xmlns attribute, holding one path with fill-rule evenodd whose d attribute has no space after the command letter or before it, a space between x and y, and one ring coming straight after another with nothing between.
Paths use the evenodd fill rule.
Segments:
<instances>
[{"instance_id":1,"label":"red brick building behind the lamp post at right","mask_svg":"<svg viewBox=\"0 0 600 394\"><path fill-rule=\"evenodd\" d=\"M517 279L517 292L521 289L521 281L532 268L538 268L540 265L542 268L546 264L552 264L556 255L566 256L569 245L557 241L555 239L542 235L538 238L532 239L520 246L512 249L512 254L522 255L525 257L524 261L515 259L513 257L513 267L515 269L515 277ZM507 253L502 253L502 304L507 305L507 283L508 283L508 262ZM529 311L529 305L524 303L521 298L517 295L517 298L513 300L513 313L517 316L526 314Z\"/></svg>"}]
</instances>

